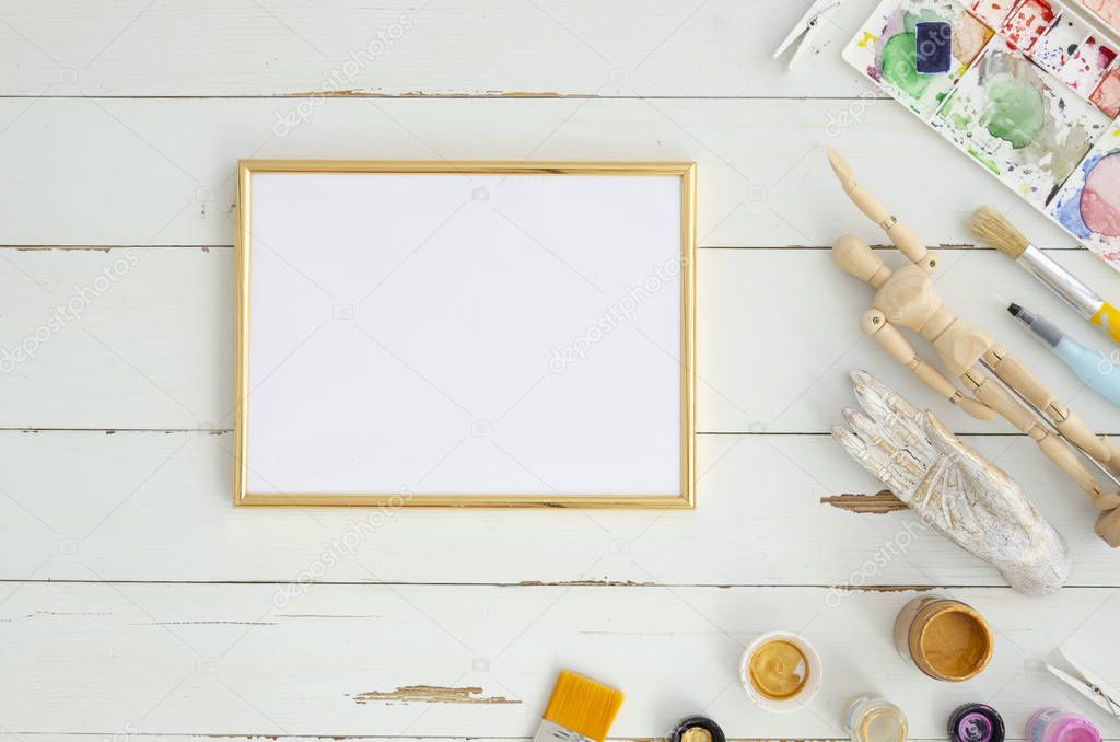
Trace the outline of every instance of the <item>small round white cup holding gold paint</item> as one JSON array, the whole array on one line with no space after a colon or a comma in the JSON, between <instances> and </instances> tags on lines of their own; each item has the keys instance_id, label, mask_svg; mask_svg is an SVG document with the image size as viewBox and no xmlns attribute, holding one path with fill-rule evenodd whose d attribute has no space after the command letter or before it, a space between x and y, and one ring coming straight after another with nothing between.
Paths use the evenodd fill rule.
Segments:
<instances>
[{"instance_id":1,"label":"small round white cup holding gold paint","mask_svg":"<svg viewBox=\"0 0 1120 742\"><path fill-rule=\"evenodd\" d=\"M759 708L776 714L797 711L821 688L821 657L801 634L771 631L743 652L739 681Z\"/></svg>"}]
</instances>

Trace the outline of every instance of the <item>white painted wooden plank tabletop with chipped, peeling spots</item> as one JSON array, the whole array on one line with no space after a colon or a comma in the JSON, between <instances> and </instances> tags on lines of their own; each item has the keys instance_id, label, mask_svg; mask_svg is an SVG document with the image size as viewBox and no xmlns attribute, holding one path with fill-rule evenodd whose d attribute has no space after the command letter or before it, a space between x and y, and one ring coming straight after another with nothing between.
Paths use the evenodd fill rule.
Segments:
<instances>
[{"instance_id":1,"label":"white painted wooden plank tabletop with chipped, peeling spots","mask_svg":"<svg viewBox=\"0 0 1120 742\"><path fill-rule=\"evenodd\" d=\"M827 247L881 236L823 150L945 247L954 308L1112 434L1120 414L988 291L1096 338L963 219L1010 210L1102 291L1120 276L839 61L869 4L846 2L785 74L768 56L801 2L0 2L0 353L35 338L0 368L0 733L521 739L566 666L627 693L619 738L693 712L736 738L838 738L864 692L915 739L965 701L1016 739L1043 705L1092 714L1028 660L1070 642L1120 685L1120 655L1093 651L1120 620L1120 557L1028 440L945 409L861 337L869 295ZM234 510L239 157L698 161L699 508ZM49 322L106 270L80 317ZM881 489L827 436L852 368L1023 484L1070 544L1068 587L1017 595L905 511L822 502ZM895 613L928 588L997 630L979 678L940 685L895 653ZM772 628L823 656L802 713L737 685Z\"/></svg>"}]
</instances>

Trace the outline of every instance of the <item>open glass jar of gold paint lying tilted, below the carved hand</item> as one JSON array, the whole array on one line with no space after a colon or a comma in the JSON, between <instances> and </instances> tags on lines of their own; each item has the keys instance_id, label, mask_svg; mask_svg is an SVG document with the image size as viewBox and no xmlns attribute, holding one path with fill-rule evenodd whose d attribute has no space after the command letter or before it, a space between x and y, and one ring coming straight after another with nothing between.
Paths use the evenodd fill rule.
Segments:
<instances>
[{"instance_id":1,"label":"open glass jar of gold paint lying tilted, below the carved hand","mask_svg":"<svg viewBox=\"0 0 1120 742\"><path fill-rule=\"evenodd\" d=\"M916 597L895 619L895 646L925 675L968 680L991 661L995 638L972 606L942 595Z\"/></svg>"}]
</instances>

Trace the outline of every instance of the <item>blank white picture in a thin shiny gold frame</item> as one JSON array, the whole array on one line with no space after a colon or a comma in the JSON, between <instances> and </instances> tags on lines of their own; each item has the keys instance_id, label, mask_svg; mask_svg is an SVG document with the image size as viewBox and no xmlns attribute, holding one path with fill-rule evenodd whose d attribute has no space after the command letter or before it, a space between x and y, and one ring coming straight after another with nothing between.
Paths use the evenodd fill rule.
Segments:
<instances>
[{"instance_id":1,"label":"blank white picture in a thin shiny gold frame","mask_svg":"<svg viewBox=\"0 0 1120 742\"><path fill-rule=\"evenodd\" d=\"M694 163L237 177L234 504L696 506Z\"/></svg>"}]
</instances>

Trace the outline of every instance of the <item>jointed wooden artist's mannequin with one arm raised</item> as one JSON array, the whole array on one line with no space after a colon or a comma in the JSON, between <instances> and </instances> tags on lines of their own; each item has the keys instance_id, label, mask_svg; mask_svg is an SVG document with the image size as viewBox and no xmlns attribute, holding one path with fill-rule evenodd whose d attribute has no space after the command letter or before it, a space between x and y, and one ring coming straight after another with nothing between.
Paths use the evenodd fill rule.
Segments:
<instances>
[{"instance_id":1,"label":"jointed wooden artist's mannequin with one arm raised","mask_svg":"<svg viewBox=\"0 0 1120 742\"><path fill-rule=\"evenodd\" d=\"M829 164L848 197L868 219L883 228L895 247L913 263L893 271L866 242L851 234L833 243L832 256L840 267L878 289L871 308L860 321L864 332L874 335L884 350L925 386L972 417L990 420L999 415L1030 436L1046 457L1068 474L1102 511L1096 519L1096 534L1109 546L1120 546L1120 493L1102 488L1062 437L1113 475L1120 474L1120 448L1107 438L1098 437L987 332L953 314L937 296L930 279L937 265L934 253L875 196L856 183L848 164L832 150L829 150ZM965 396L941 371L924 361L899 327L928 342L942 367L960 379L972 397ZM1060 435L1052 433L1039 416L1017 401L1000 381L1039 410Z\"/></svg>"}]
</instances>

